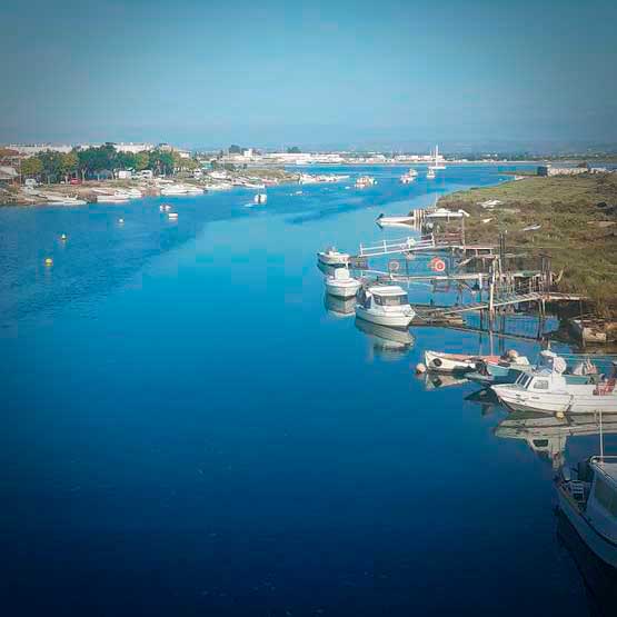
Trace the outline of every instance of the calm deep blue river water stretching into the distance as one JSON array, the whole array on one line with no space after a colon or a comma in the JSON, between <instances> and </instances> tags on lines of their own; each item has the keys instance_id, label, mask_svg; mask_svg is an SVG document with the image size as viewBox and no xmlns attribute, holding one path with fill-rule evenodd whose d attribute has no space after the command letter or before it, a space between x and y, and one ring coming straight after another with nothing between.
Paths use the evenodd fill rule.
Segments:
<instances>
[{"instance_id":1,"label":"calm deep blue river water stretching into the distance","mask_svg":"<svg viewBox=\"0 0 617 617\"><path fill-rule=\"evenodd\" d=\"M380 340L327 311L316 267L381 238L380 212L504 178L370 171L258 208L0 210L3 614L587 615L550 461L498 438L477 388L412 375L490 341Z\"/></svg>"}]
</instances>

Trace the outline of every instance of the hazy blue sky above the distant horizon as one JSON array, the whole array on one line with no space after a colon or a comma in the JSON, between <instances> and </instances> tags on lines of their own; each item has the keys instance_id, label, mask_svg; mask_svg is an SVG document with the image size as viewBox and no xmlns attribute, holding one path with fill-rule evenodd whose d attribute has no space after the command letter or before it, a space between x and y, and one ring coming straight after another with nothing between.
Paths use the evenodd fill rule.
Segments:
<instances>
[{"instance_id":1,"label":"hazy blue sky above the distant horizon","mask_svg":"<svg viewBox=\"0 0 617 617\"><path fill-rule=\"evenodd\" d=\"M615 146L616 31L614 0L2 2L0 142Z\"/></svg>"}]
</instances>

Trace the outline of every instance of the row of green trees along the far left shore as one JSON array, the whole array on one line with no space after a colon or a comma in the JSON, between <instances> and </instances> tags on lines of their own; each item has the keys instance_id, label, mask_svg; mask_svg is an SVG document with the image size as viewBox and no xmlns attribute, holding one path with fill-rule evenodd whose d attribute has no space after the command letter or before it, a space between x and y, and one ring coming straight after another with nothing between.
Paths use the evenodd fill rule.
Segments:
<instances>
[{"instance_id":1,"label":"row of green trees along the far left shore","mask_svg":"<svg viewBox=\"0 0 617 617\"><path fill-rule=\"evenodd\" d=\"M198 162L191 158L182 158L175 151L153 149L143 152L119 152L113 143L98 148L71 150L62 153L53 150L39 152L21 161L21 176L37 178L47 182L68 181L76 177L99 178L113 175L122 169L142 171L151 169L156 175L170 176L176 171L192 171Z\"/></svg>"}]
</instances>

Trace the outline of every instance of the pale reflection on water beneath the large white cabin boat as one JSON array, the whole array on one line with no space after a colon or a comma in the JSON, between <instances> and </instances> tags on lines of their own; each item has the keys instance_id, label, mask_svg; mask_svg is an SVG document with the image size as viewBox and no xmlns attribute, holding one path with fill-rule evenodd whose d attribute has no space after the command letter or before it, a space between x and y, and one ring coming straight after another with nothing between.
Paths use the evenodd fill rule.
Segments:
<instances>
[{"instance_id":1,"label":"pale reflection on water beneath the large white cabin boat","mask_svg":"<svg viewBox=\"0 0 617 617\"><path fill-rule=\"evenodd\" d=\"M565 462L568 437L599 435L599 415L557 418L545 414L512 412L495 428L505 439L523 439L538 456L551 461L554 469ZM617 412L603 412L603 432L617 434Z\"/></svg>"}]
</instances>

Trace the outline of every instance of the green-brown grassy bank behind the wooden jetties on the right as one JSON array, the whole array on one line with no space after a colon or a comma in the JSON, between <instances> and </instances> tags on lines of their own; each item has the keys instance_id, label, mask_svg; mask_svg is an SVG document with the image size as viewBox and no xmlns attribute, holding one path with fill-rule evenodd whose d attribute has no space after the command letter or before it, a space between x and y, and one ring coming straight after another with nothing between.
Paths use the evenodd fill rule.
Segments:
<instances>
[{"instance_id":1,"label":"green-brown grassy bank behind the wooden jetties on the right","mask_svg":"<svg viewBox=\"0 0 617 617\"><path fill-rule=\"evenodd\" d=\"M491 199L502 203L492 210L479 206ZM616 173L525 178L451 193L439 206L471 215L468 241L497 243L505 231L508 251L530 260L549 253L553 269L563 270L561 290L585 293L599 312L617 315ZM535 225L541 227L524 231Z\"/></svg>"}]
</instances>

